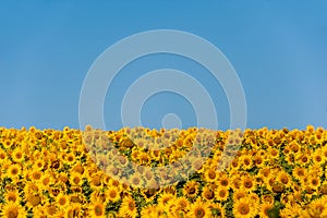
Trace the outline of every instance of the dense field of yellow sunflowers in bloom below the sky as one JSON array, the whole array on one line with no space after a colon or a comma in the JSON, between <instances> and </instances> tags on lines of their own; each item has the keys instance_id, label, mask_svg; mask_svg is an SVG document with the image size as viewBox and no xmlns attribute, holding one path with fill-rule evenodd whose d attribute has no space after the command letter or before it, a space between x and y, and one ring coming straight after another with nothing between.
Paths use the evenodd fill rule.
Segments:
<instances>
[{"instance_id":1,"label":"dense field of yellow sunflowers in bloom below the sky","mask_svg":"<svg viewBox=\"0 0 327 218\"><path fill-rule=\"evenodd\" d=\"M327 131L0 128L1 217L327 217Z\"/></svg>"}]
</instances>

